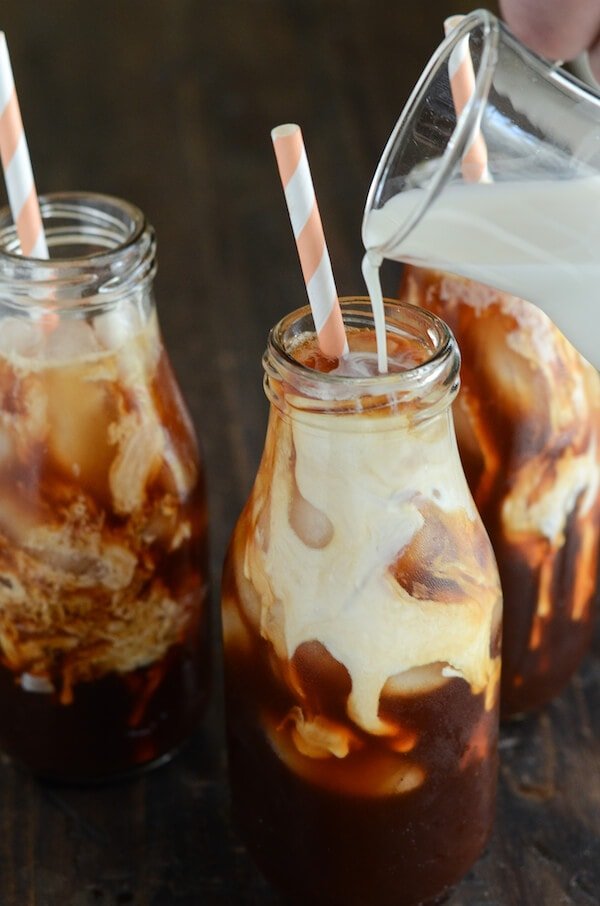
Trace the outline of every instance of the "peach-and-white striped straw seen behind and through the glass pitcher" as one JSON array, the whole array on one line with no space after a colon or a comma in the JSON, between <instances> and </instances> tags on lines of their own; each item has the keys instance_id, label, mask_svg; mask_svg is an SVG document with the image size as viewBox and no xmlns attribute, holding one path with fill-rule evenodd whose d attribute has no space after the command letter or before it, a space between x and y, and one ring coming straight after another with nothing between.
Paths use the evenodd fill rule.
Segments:
<instances>
[{"instance_id":1,"label":"peach-and-white striped straw seen behind and through the glass pitcher","mask_svg":"<svg viewBox=\"0 0 600 906\"><path fill-rule=\"evenodd\" d=\"M444 21L446 35L457 27L464 16L450 16ZM465 35L450 54L448 60L448 77L457 118L465 109L475 92L475 72L469 53L469 36ZM481 130L477 129L471 136L462 158L462 174L467 182L491 182L487 165L487 146Z\"/></svg>"}]
</instances>

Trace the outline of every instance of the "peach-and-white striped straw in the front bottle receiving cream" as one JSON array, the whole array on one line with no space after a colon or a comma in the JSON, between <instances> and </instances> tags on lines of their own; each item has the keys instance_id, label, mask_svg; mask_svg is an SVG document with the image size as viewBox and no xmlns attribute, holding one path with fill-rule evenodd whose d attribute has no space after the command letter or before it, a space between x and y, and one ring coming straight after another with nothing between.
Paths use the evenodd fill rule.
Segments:
<instances>
[{"instance_id":1,"label":"peach-and-white striped straw in the front bottle receiving cream","mask_svg":"<svg viewBox=\"0 0 600 906\"><path fill-rule=\"evenodd\" d=\"M340 358L348 352L348 343L300 126L277 126L271 138L319 348Z\"/></svg>"}]
</instances>

